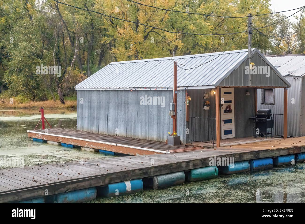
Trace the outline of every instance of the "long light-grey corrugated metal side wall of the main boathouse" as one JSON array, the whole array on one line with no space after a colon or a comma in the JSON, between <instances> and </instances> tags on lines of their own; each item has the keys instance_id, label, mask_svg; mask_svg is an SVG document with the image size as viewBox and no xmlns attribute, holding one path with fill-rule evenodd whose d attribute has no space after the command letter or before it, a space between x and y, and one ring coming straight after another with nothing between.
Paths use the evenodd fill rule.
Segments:
<instances>
[{"instance_id":1,"label":"long light-grey corrugated metal side wall of the main boathouse","mask_svg":"<svg viewBox=\"0 0 305 224\"><path fill-rule=\"evenodd\" d=\"M165 106L140 105L140 97L165 97ZM173 122L170 90L77 90L77 130L166 141ZM185 91L177 95L177 132L185 143ZM81 103L83 102L83 103Z\"/></svg>"}]
</instances>

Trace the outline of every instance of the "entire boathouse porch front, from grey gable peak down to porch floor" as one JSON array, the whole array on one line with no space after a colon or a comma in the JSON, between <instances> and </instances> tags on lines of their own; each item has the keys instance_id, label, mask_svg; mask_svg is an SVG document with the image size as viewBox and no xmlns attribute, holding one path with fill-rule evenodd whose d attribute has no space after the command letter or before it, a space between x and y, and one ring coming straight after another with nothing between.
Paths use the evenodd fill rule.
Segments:
<instances>
[{"instance_id":1,"label":"entire boathouse porch front, from grey gable peak down to porch floor","mask_svg":"<svg viewBox=\"0 0 305 224\"><path fill-rule=\"evenodd\" d=\"M252 53L251 66L245 56L224 73L210 77L210 85L186 89L186 98L191 98L186 106L188 145L221 147L287 138L290 84L257 49ZM265 119L258 119L257 89L267 93L276 88L284 89L284 113L269 110ZM262 97L269 100L270 96ZM268 124L264 128L258 124L262 120Z\"/></svg>"}]
</instances>

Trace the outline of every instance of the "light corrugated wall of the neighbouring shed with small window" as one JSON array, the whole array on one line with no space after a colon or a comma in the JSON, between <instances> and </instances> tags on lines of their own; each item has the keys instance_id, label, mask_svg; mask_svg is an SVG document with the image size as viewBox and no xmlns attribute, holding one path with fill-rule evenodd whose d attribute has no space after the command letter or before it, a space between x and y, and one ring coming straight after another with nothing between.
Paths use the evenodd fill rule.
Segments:
<instances>
[{"instance_id":1,"label":"light corrugated wall of the neighbouring shed with small window","mask_svg":"<svg viewBox=\"0 0 305 224\"><path fill-rule=\"evenodd\" d=\"M299 137L302 134L302 111L304 112L304 104L302 100L302 78L295 76L285 76L286 80L291 84L288 88L288 136ZM262 89L257 89L257 108L270 108L272 113L284 113L284 89L275 89L274 105L261 104ZM294 104L292 103L294 98Z\"/></svg>"}]
</instances>

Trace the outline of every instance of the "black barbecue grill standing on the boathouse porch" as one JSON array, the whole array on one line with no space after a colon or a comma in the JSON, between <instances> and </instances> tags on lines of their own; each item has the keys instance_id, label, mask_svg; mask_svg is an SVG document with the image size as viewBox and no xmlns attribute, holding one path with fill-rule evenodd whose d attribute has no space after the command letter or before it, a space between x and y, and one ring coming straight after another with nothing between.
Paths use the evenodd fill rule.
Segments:
<instances>
[{"instance_id":1,"label":"black barbecue grill standing on the boathouse porch","mask_svg":"<svg viewBox=\"0 0 305 224\"><path fill-rule=\"evenodd\" d=\"M254 126L255 126L255 130L254 130L254 137L256 138L257 135L257 129L259 129L259 136L260 137L264 137L264 134L266 135L273 135L273 126L274 126L274 121L272 118L272 113L271 113L271 109L259 109L256 112L256 116L255 117L250 117L250 119L254 119ZM267 132L270 131L271 132Z\"/></svg>"}]
</instances>

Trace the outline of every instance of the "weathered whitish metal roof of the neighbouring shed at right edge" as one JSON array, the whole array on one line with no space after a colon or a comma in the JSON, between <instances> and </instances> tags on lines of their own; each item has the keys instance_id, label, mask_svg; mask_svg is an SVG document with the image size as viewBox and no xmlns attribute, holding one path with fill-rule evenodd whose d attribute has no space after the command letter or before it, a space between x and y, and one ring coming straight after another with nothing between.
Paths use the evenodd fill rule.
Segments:
<instances>
[{"instance_id":1,"label":"weathered whitish metal roof of the neighbouring shed at right edge","mask_svg":"<svg viewBox=\"0 0 305 224\"><path fill-rule=\"evenodd\" d=\"M265 56L283 76L304 76L305 55Z\"/></svg>"}]
</instances>

